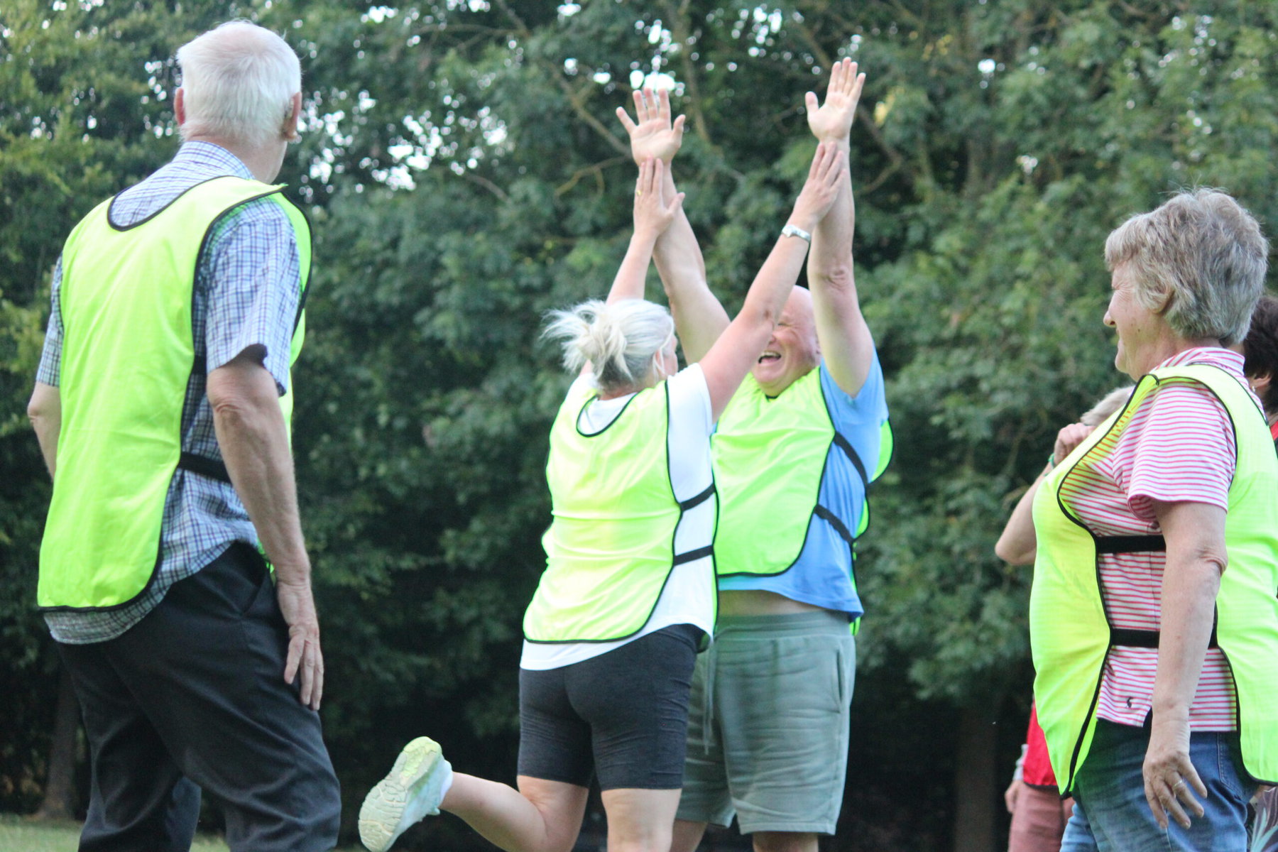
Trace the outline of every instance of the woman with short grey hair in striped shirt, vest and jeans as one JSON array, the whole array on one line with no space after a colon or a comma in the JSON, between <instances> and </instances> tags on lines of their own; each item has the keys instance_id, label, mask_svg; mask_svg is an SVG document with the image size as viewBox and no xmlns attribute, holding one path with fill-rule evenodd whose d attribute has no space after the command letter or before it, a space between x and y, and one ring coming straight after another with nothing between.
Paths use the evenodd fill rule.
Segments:
<instances>
[{"instance_id":1,"label":"woman with short grey hair in striped shirt, vest and jeans","mask_svg":"<svg viewBox=\"0 0 1278 852\"><path fill-rule=\"evenodd\" d=\"M1226 349L1266 257L1213 189L1105 243L1104 323L1136 388L1033 507L1034 694L1076 802L1063 852L1243 849L1247 800L1278 778L1278 457Z\"/></svg>"}]
</instances>

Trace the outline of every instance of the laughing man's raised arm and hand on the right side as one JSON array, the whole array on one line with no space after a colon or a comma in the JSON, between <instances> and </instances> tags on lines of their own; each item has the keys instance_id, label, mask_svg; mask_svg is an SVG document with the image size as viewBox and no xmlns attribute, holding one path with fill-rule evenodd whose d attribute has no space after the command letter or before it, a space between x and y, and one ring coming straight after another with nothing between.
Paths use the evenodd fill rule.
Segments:
<instances>
[{"instance_id":1,"label":"laughing man's raised arm and hand on the right side","mask_svg":"<svg viewBox=\"0 0 1278 852\"><path fill-rule=\"evenodd\" d=\"M817 95L808 92L808 126L817 142L835 144L845 156L850 155L849 137L864 84L865 74L856 72L856 63L843 59L831 69L824 103L818 106ZM838 198L812 234L808 286L826 369L850 396L861 390L874 359L874 339L861 316L852 276L855 224L852 179L845 172Z\"/></svg>"}]
</instances>

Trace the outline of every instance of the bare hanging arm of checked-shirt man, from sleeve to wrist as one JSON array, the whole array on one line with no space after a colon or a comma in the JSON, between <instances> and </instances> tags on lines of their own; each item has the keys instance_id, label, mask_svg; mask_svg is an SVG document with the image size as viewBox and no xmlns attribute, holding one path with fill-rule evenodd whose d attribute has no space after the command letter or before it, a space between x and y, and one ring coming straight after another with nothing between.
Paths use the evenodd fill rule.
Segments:
<instances>
[{"instance_id":1,"label":"bare hanging arm of checked-shirt man, from sleeve to wrist","mask_svg":"<svg viewBox=\"0 0 1278 852\"><path fill-rule=\"evenodd\" d=\"M219 376L221 370L235 372ZM277 579L309 580L293 453L275 379L259 364L233 363L210 376L210 400L222 461Z\"/></svg>"}]
</instances>

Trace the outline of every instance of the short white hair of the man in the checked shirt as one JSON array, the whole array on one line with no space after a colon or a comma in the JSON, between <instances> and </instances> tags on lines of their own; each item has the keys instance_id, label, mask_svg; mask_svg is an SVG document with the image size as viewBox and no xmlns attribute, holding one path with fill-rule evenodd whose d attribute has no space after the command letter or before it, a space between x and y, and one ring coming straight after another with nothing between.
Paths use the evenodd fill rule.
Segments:
<instances>
[{"instance_id":1,"label":"short white hair of the man in the checked shirt","mask_svg":"<svg viewBox=\"0 0 1278 852\"><path fill-rule=\"evenodd\" d=\"M187 120L181 138L263 144L280 137L302 91L302 65L280 36L229 20L178 49Z\"/></svg>"}]
</instances>

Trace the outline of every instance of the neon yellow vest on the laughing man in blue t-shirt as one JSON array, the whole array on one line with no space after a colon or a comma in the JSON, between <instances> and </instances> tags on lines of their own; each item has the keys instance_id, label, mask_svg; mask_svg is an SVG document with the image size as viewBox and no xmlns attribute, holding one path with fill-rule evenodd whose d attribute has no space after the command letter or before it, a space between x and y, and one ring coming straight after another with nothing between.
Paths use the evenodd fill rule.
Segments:
<instances>
[{"instance_id":1,"label":"neon yellow vest on the laughing man in blue t-shirt","mask_svg":"<svg viewBox=\"0 0 1278 852\"><path fill-rule=\"evenodd\" d=\"M714 562L720 576L778 575L803 553L808 528L819 517L847 542L869 526L869 501L860 517L840 517L819 498L826 460L837 447L866 488L892 457L892 429L884 420L873 473L835 430L820 387L820 369L803 376L777 397L768 397L753 376L720 416L712 442L714 482L720 492L720 526ZM854 553L855 565L855 553ZM851 576L856 588L856 574Z\"/></svg>"}]
</instances>

